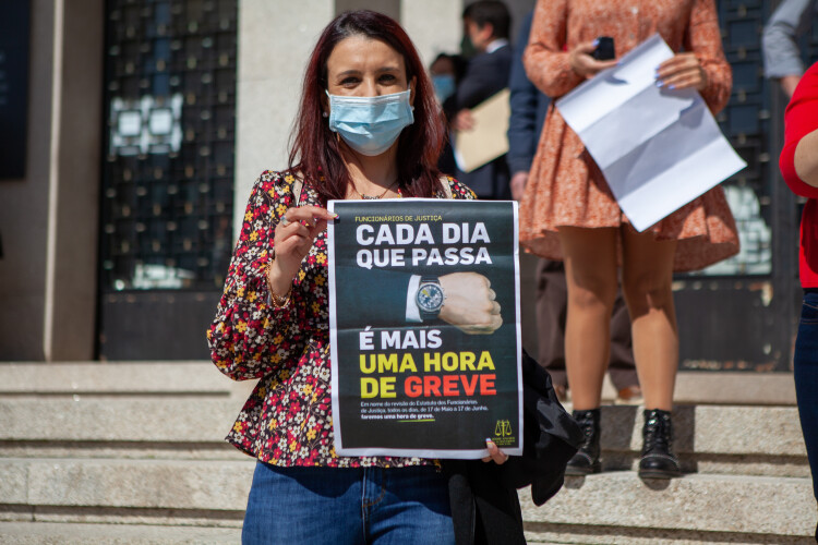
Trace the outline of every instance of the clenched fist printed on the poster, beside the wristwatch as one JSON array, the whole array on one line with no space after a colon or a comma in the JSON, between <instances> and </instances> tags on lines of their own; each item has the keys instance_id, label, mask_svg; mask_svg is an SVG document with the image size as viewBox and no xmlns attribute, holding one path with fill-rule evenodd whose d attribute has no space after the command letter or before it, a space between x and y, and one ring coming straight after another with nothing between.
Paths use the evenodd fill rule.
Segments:
<instances>
[{"instance_id":1,"label":"clenched fist printed on the poster, beside the wristwatch","mask_svg":"<svg viewBox=\"0 0 818 545\"><path fill-rule=\"evenodd\" d=\"M503 325L497 295L483 275L452 272L440 280L446 296L438 315L442 320L469 335L491 335Z\"/></svg>"}]
</instances>

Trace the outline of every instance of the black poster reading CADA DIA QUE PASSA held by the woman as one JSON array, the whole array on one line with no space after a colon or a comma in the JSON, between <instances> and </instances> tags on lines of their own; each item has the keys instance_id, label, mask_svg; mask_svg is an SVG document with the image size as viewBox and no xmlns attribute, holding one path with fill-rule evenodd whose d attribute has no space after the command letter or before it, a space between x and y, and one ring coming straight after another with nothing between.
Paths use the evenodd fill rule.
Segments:
<instances>
[{"instance_id":1,"label":"black poster reading CADA DIA QUE PASSA held by the woman","mask_svg":"<svg viewBox=\"0 0 818 545\"><path fill-rule=\"evenodd\" d=\"M517 203L328 209L336 452L477 459L491 438L520 455Z\"/></svg>"}]
</instances>

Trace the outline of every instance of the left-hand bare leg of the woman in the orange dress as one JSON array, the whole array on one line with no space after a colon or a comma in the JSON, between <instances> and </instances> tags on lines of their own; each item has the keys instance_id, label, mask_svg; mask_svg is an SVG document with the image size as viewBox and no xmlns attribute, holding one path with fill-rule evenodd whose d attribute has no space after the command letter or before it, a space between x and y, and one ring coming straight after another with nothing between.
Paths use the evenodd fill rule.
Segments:
<instances>
[{"instance_id":1,"label":"left-hand bare leg of the woman in the orange dress","mask_svg":"<svg viewBox=\"0 0 818 545\"><path fill-rule=\"evenodd\" d=\"M568 284L565 363L574 410L600 405L616 296L616 230L560 228Z\"/></svg>"}]
</instances>

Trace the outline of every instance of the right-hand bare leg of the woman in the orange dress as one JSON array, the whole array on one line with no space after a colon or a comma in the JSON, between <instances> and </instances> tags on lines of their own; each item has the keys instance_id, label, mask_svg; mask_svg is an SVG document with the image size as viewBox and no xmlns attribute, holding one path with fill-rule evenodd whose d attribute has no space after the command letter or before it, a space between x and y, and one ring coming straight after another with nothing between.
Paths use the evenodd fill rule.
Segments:
<instances>
[{"instance_id":1,"label":"right-hand bare leg of the woman in the orange dress","mask_svg":"<svg viewBox=\"0 0 818 545\"><path fill-rule=\"evenodd\" d=\"M630 312L634 356L646 409L670 411L678 367L678 331L673 306L675 241L622 228L623 291Z\"/></svg>"}]
</instances>

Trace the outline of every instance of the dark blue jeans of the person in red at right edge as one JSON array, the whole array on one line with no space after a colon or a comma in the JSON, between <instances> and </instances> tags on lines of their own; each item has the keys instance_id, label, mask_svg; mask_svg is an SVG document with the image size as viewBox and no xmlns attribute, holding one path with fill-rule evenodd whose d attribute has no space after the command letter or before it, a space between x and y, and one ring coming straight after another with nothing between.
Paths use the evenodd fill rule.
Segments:
<instances>
[{"instance_id":1,"label":"dark blue jeans of the person in red at right edge","mask_svg":"<svg viewBox=\"0 0 818 545\"><path fill-rule=\"evenodd\" d=\"M806 290L795 339L795 396L818 499L818 290Z\"/></svg>"}]
</instances>

